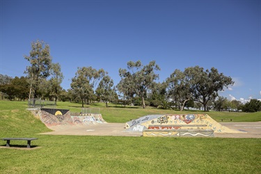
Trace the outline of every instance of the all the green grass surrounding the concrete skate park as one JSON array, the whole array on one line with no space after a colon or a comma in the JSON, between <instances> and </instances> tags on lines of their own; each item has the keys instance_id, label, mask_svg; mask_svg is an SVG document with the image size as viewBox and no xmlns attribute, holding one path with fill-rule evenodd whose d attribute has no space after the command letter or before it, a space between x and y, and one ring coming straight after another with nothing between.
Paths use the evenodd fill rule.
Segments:
<instances>
[{"instance_id":1,"label":"all the green grass surrounding the concrete skate park","mask_svg":"<svg viewBox=\"0 0 261 174\"><path fill-rule=\"evenodd\" d=\"M260 173L261 139L55 136L26 111L26 102L0 100L0 137L36 137L33 150L0 148L0 173ZM89 105L87 105L89 106ZM104 104L103 118L126 122L150 114L204 113L122 108ZM58 102L57 108L80 112L81 104ZM208 112L215 120L260 121L259 113ZM1 141L4 146L6 141ZM22 146L24 147L24 146Z\"/></svg>"}]
</instances>

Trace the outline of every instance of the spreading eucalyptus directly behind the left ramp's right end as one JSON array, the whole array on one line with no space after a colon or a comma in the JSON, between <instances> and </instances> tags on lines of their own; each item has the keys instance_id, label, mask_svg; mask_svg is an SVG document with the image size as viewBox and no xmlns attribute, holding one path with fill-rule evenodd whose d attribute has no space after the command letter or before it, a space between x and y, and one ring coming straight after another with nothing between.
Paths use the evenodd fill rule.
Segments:
<instances>
[{"instance_id":1,"label":"spreading eucalyptus directly behind the left ramp's right end","mask_svg":"<svg viewBox=\"0 0 261 174\"><path fill-rule=\"evenodd\" d=\"M97 82L104 77L103 69L95 70L92 67L78 68L75 76L72 78L72 93L81 98L81 105L84 107L84 101L89 104L89 100L94 95L94 87Z\"/></svg>"}]
</instances>

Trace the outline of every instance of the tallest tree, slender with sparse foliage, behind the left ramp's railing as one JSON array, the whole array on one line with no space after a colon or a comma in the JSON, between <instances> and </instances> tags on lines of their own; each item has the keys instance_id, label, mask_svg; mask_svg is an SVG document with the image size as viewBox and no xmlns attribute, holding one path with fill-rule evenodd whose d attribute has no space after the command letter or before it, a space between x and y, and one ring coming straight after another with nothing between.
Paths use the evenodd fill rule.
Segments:
<instances>
[{"instance_id":1,"label":"tallest tree, slender with sparse foliage, behind the left ramp's railing","mask_svg":"<svg viewBox=\"0 0 261 174\"><path fill-rule=\"evenodd\" d=\"M29 56L24 56L24 58L31 63L31 66L27 66L24 72L29 78L30 99L31 93L33 93L34 97L38 97L40 79L46 79L49 77L49 70L52 66L49 45L39 40L32 42L31 52Z\"/></svg>"}]
</instances>

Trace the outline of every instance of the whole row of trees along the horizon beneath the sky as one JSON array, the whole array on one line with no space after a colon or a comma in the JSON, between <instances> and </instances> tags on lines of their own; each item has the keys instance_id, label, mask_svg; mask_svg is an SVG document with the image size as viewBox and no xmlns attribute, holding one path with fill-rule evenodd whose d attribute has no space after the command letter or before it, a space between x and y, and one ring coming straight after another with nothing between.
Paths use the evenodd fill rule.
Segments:
<instances>
[{"instance_id":1,"label":"whole row of trees along the horizon beneath the sky","mask_svg":"<svg viewBox=\"0 0 261 174\"><path fill-rule=\"evenodd\" d=\"M201 104L204 111L207 111L210 103L216 110L226 108L219 103L226 103L226 99L219 97L218 92L234 84L231 77L219 73L216 68L204 70L199 66L185 68L183 72L174 70L166 81L157 83L159 74L156 72L160 68L155 61L150 61L148 65L143 65L141 61L129 61L127 69L119 69L121 79L116 86L108 72L89 66L77 69L71 88L66 91L61 87L64 78L61 65L52 62L49 45L39 40L32 42L31 52L24 58L31 64L24 71L26 77L13 79L0 74L2 100L4 96L9 100L15 97L20 100L42 97L55 102L81 102L84 107L84 104L97 100L104 101L108 106L108 102L117 103L120 97L121 103L140 104L143 109L148 105L162 109L175 106L182 111L185 106L192 106L194 102ZM258 105L258 102L254 103ZM259 105L258 111L261 110L261 104Z\"/></svg>"}]
</instances>

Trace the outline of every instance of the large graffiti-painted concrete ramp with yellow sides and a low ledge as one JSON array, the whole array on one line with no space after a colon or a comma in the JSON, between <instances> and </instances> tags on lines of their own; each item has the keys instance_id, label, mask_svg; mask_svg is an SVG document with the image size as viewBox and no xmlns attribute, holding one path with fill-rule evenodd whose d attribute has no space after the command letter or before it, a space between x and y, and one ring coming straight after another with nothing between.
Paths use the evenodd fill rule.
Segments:
<instances>
[{"instance_id":1,"label":"large graffiti-painted concrete ramp with yellow sides and a low ledge","mask_svg":"<svg viewBox=\"0 0 261 174\"><path fill-rule=\"evenodd\" d=\"M144 120L146 117L148 119ZM214 133L244 133L221 125L207 114L145 116L127 122L126 128L128 126L131 131L143 132L143 136L214 136Z\"/></svg>"}]
</instances>

